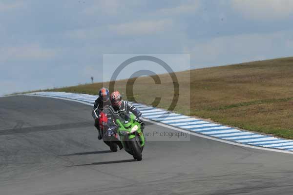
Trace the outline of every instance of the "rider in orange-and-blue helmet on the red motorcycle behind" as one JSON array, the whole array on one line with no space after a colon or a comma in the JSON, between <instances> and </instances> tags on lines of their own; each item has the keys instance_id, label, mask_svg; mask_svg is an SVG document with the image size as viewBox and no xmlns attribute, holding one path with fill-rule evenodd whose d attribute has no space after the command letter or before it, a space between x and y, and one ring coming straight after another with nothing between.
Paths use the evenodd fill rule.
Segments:
<instances>
[{"instance_id":1,"label":"rider in orange-and-blue helmet on the red motorcycle behind","mask_svg":"<svg viewBox=\"0 0 293 195\"><path fill-rule=\"evenodd\" d=\"M99 97L96 99L94 108L92 110L92 117L95 120L94 125L99 132L98 139L102 139L102 132L99 125L100 112L103 111L103 109L109 107L111 105L111 102L110 102L110 95L109 95L110 93L107 88L105 87L101 88L98 94L99 94Z\"/></svg>"}]
</instances>

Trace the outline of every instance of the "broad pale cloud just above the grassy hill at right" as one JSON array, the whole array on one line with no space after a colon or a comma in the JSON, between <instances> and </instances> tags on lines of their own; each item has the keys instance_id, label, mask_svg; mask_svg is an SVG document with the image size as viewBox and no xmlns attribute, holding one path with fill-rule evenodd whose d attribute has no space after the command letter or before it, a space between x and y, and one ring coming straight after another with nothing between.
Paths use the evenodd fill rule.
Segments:
<instances>
[{"instance_id":1,"label":"broad pale cloud just above the grassy hill at right","mask_svg":"<svg viewBox=\"0 0 293 195\"><path fill-rule=\"evenodd\" d=\"M197 64L219 65L245 61L272 59L292 55L292 31L243 34L193 41L185 53ZM286 49L287 47L287 49Z\"/></svg>"}]
</instances>

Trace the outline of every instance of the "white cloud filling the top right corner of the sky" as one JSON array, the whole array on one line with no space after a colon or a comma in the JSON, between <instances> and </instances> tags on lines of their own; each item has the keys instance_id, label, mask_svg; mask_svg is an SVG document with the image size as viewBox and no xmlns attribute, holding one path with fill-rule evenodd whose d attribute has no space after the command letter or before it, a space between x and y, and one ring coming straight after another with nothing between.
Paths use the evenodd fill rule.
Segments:
<instances>
[{"instance_id":1,"label":"white cloud filling the top right corner of the sky","mask_svg":"<svg viewBox=\"0 0 293 195\"><path fill-rule=\"evenodd\" d=\"M284 19L293 15L293 0L231 0L231 7L253 20Z\"/></svg>"}]
</instances>

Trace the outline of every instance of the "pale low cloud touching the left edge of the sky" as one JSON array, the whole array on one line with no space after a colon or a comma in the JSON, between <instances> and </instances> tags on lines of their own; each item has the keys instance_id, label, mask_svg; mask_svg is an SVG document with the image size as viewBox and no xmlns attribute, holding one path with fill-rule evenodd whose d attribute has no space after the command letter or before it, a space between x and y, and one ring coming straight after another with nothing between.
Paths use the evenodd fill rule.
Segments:
<instances>
[{"instance_id":1,"label":"pale low cloud touching the left edge of the sky","mask_svg":"<svg viewBox=\"0 0 293 195\"><path fill-rule=\"evenodd\" d=\"M38 44L0 48L0 61L20 59L47 59L55 56L55 51L45 49Z\"/></svg>"}]
</instances>

